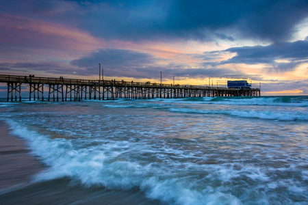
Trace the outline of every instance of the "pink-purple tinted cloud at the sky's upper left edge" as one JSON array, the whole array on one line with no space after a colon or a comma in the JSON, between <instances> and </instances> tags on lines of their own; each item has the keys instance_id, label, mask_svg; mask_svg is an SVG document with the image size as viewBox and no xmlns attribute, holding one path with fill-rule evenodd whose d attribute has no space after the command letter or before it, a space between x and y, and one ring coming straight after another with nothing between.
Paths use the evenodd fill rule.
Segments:
<instances>
[{"instance_id":1,"label":"pink-purple tinted cloud at the sky's upper left edge","mask_svg":"<svg viewBox=\"0 0 308 205\"><path fill-rule=\"evenodd\" d=\"M85 31L60 23L49 23L21 16L0 14L0 43L27 49L57 49L85 51L96 48L99 40Z\"/></svg>"}]
</instances>

